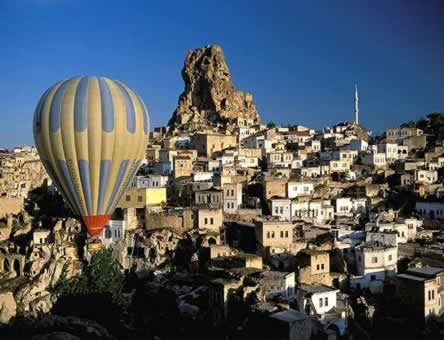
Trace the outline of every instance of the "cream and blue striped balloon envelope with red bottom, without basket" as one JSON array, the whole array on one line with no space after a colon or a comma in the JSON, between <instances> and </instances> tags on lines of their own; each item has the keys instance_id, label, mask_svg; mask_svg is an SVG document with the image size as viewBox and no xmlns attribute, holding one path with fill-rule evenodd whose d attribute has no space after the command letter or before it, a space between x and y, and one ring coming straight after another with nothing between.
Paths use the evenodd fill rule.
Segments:
<instances>
[{"instance_id":1,"label":"cream and blue striped balloon envelope with red bottom, without basket","mask_svg":"<svg viewBox=\"0 0 444 340\"><path fill-rule=\"evenodd\" d=\"M127 85L75 77L50 87L34 112L48 175L91 236L99 235L145 158L149 115Z\"/></svg>"}]
</instances>

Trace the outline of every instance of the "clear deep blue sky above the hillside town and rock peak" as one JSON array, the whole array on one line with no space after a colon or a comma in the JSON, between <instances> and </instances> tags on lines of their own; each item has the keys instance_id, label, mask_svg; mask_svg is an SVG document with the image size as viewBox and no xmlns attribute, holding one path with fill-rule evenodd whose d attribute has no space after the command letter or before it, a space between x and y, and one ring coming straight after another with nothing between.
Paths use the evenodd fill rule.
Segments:
<instances>
[{"instance_id":1,"label":"clear deep blue sky above the hillside town and rock peak","mask_svg":"<svg viewBox=\"0 0 444 340\"><path fill-rule=\"evenodd\" d=\"M0 146L33 143L39 96L73 75L120 79L166 124L187 49L220 44L263 121L385 126L444 111L444 1L0 0Z\"/></svg>"}]
</instances>

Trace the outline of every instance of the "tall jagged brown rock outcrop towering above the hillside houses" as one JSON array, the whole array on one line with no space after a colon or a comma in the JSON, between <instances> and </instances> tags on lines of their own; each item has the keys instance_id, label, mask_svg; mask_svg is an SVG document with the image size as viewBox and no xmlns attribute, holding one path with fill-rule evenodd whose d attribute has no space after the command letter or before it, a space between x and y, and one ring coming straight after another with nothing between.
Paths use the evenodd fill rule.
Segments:
<instances>
[{"instance_id":1,"label":"tall jagged brown rock outcrop towering above the hillside houses","mask_svg":"<svg viewBox=\"0 0 444 340\"><path fill-rule=\"evenodd\" d=\"M260 121L253 95L237 91L222 48L209 45L188 51L182 69L185 90L168 125L193 129L232 128L237 118Z\"/></svg>"}]
</instances>

